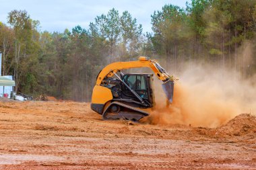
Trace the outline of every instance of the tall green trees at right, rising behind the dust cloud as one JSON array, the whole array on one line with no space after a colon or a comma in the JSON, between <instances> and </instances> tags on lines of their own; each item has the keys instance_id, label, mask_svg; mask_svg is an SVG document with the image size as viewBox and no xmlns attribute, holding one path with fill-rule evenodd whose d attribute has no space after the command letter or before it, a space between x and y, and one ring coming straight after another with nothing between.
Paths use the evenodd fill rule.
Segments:
<instances>
[{"instance_id":1,"label":"tall green trees at right, rising behind the dust cloud","mask_svg":"<svg viewBox=\"0 0 256 170\"><path fill-rule=\"evenodd\" d=\"M255 0L192 0L184 11L164 5L152 15L148 45L177 71L177 63L206 60L243 70L239 46L255 37ZM214 57L212 57L214 56ZM219 56L219 57L216 57ZM178 68L177 68L178 67Z\"/></svg>"}]
</instances>

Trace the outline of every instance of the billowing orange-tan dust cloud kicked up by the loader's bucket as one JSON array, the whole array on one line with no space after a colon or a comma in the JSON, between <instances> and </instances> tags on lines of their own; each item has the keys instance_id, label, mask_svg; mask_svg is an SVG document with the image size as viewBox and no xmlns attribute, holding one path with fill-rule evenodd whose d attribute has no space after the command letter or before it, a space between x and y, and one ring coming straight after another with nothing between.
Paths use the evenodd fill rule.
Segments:
<instances>
[{"instance_id":1,"label":"billowing orange-tan dust cloud kicked up by the loader's bucket","mask_svg":"<svg viewBox=\"0 0 256 170\"><path fill-rule=\"evenodd\" d=\"M212 66L190 65L187 68L175 82L170 105L161 83L154 81L156 107L144 121L215 128L238 114L256 113L255 82Z\"/></svg>"}]
</instances>

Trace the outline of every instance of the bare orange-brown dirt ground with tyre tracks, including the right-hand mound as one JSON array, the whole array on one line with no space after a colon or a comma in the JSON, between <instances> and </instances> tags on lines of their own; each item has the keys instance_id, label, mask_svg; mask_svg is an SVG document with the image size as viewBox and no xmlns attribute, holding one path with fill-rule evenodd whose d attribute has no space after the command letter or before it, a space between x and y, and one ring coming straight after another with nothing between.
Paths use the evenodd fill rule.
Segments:
<instances>
[{"instance_id":1,"label":"bare orange-brown dirt ground with tyre tracks, including the right-hand mound","mask_svg":"<svg viewBox=\"0 0 256 170\"><path fill-rule=\"evenodd\" d=\"M103 121L89 103L0 102L0 169L256 169L256 119L210 128Z\"/></svg>"}]
</instances>

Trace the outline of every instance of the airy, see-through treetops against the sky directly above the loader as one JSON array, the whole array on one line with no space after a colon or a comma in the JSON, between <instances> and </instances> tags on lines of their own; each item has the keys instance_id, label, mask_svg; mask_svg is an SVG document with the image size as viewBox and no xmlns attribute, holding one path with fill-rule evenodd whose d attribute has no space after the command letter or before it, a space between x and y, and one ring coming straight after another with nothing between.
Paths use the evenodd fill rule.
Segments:
<instances>
[{"instance_id":1,"label":"airy, see-through treetops against the sky directly above the loader","mask_svg":"<svg viewBox=\"0 0 256 170\"><path fill-rule=\"evenodd\" d=\"M113 62L113 59L127 60L139 54L141 49L142 26L128 11L119 15L116 9L110 9L107 15L95 18L95 23L90 23L89 33L96 42L102 42L108 52L104 52L104 60ZM117 58L114 58L117 56Z\"/></svg>"}]
</instances>

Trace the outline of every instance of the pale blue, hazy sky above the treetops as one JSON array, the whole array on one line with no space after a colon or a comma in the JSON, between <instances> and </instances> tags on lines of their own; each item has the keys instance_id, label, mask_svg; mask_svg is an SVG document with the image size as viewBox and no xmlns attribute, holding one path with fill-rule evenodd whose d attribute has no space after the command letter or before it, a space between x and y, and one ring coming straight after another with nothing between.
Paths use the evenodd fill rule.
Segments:
<instances>
[{"instance_id":1,"label":"pale blue, hazy sky above the treetops","mask_svg":"<svg viewBox=\"0 0 256 170\"><path fill-rule=\"evenodd\" d=\"M119 11L129 11L142 24L143 32L152 32L151 17L154 11L166 4L186 7L190 0L0 0L0 22L7 24L7 15L13 9L26 10L30 18L39 20L39 30L43 32L63 32L79 25L88 29L90 22L113 7Z\"/></svg>"}]
</instances>

